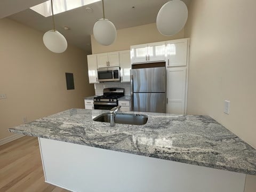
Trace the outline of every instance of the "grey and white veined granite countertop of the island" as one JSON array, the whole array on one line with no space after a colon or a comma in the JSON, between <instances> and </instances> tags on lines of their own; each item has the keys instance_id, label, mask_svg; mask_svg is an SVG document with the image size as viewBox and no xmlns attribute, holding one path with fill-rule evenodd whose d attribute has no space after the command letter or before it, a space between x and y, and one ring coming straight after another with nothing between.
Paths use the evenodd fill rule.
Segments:
<instances>
[{"instance_id":1,"label":"grey and white veined granite countertop of the island","mask_svg":"<svg viewBox=\"0 0 256 192\"><path fill-rule=\"evenodd\" d=\"M9 129L80 145L256 175L256 149L209 116L148 115L145 125L94 122L105 110L69 109Z\"/></svg>"}]
</instances>

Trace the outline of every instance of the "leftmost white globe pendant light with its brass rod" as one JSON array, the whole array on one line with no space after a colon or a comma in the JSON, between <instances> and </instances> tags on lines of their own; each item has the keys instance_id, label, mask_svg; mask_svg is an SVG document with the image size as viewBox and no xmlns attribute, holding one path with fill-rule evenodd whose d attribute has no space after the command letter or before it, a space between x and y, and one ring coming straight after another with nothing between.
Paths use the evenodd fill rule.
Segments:
<instances>
[{"instance_id":1,"label":"leftmost white globe pendant light with its brass rod","mask_svg":"<svg viewBox=\"0 0 256 192\"><path fill-rule=\"evenodd\" d=\"M53 22L53 29L47 31L43 36L43 42L44 45L49 49L50 51L54 53L62 53L67 49L67 40L66 38L59 33L55 29L55 22L54 22L54 16L53 16L53 3L51 0L51 6L52 6L52 22Z\"/></svg>"}]
</instances>

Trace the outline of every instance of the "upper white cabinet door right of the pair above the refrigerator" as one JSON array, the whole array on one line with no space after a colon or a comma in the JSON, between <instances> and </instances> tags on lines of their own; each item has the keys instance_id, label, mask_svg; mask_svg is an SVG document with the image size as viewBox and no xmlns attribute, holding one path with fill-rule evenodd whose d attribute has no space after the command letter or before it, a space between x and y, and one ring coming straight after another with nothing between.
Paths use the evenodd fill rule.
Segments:
<instances>
[{"instance_id":1,"label":"upper white cabinet door right of the pair above the refrigerator","mask_svg":"<svg viewBox=\"0 0 256 192\"><path fill-rule=\"evenodd\" d=\"M166 42L166 67L186 66L188 60L188 38Z\"/></svg>"}]
</instances>

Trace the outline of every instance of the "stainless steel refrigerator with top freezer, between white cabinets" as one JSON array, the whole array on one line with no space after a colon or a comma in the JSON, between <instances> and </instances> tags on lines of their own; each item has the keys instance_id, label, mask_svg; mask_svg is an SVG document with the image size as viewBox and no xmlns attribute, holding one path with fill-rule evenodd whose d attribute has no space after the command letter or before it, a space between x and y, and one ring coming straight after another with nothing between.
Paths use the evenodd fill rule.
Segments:
<instances>
[{"instance_id":1,"label":"stainless steel refrigerator with top freezer, between white cabinets","mask_svg":"<svg viewBox=\"0 0 256 192\"><path fill-rule=\"evenodd\" d=\"M131 69L131 110L166 113L165 67Z\"/></svg>"}]
</instances>

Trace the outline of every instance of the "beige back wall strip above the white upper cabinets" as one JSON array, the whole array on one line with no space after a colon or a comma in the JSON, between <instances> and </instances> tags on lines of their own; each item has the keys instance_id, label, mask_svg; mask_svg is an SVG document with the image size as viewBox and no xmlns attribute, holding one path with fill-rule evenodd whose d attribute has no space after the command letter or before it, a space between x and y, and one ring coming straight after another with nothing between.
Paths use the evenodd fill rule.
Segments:
<instances>
[{"instance_id":1,"label":"beige back wall strip above the white upper cabinets","mask_svg":"<svg viewBox=\"0 0 256 192\"><path fill-rule=\"evenodd\" d=\"M178 34L168 37L158 32L156 23L150 23L148 25L117 30L116 41L109 46L100 45L97 41L95 41L93 35L91 35L92 54L130 50L131 45L161 42L183 37L184 29L182 29Z\"/></svg>"}]
</instances>

